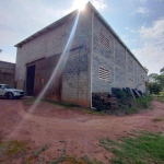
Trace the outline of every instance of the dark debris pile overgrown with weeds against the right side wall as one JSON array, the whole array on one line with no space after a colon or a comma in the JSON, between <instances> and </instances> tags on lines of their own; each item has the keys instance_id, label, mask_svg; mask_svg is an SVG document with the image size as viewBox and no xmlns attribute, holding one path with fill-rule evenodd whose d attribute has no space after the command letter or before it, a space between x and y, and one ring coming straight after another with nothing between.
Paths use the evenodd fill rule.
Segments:
<instances>
[{"instance_id":1,"label":"dark debris pile overgrown with weeds against the right side wall","mask_svg":"<svg viewBox=\"0 0 164 164\"><path fill-rule=\"evenodd\" d=\"M134 99L128 90L115 89L113 93L113 95L107 93L93 94L93 106L97 112L110 115L129 115L151 108L152 97L149 95Z\"/></svg>"}]
</instances>

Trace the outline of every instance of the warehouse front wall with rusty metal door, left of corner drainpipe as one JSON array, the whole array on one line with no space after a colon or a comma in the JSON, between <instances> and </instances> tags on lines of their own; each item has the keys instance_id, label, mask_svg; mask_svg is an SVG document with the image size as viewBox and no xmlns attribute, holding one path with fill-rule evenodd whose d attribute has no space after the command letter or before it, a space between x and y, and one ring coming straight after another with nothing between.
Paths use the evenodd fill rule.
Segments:
<instances>
[{"instance_id":1,"label":"warehouse front wall with rusty metal door, left of corner drainpipe","mask_svg":"<svg viewBox=\"0 0 164 164\"><path fill-rule=\"evenodd\" d=\"M26 66L31 62L36 65L35 95L38 95L44 85L46 85L52 71L56 68L60 68L58 71L61 71L61 81L57 81L61 84L58 84L61 87L61 97L58 99L90 106L91 16L89 15L91 14L87 12L80 14L75 33L72 32L75 21L73 17L17 48L15 74L17 87L24 87ZM66 50L66 54L62 54L69 36L73 33L74 37L71 46ZM60 67L58 67L58 62L50 63L50 60L56 58L55 56L62 58ZM48 63L52 65L52 67L45 67ZM55 84L52 86L52 89L48 89L49 93L46 94L49 98L58 96L54 91Z\"/></svg>"}]
</instances>

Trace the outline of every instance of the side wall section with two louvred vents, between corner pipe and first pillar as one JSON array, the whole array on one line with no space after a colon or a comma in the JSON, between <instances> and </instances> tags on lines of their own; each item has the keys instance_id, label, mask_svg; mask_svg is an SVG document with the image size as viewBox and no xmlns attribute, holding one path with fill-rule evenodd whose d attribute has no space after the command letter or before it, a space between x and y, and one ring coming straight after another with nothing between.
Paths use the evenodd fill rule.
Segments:
<instances>
[{"instance_id":1,"label":"side wall section with two louvred vents, between corner pipe and first pillar","mask_svg":"<svg viewBox=\"0 0 164 164\"><path fill-rule=\"evenodd\" d=\"M110 39L109 49L102 45L99 40L99 32ZM114 85L114 36L108 30L93 17L93 67L92 67L92 92L108 92ZM109 70L109 81L98 78L98 69Z\"/></svg>"}]
</instances>

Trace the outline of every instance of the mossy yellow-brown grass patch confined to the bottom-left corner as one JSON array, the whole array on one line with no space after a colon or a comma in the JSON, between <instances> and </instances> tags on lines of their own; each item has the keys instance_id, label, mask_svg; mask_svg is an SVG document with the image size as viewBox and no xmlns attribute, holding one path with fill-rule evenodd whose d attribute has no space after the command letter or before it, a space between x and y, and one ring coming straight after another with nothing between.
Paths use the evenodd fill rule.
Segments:
<instances>
[{"instance_id":1,"label":"mossy yellow-brown grass patch confined to the bottom-left corner","mask_svg":"<svg viewBox=\"0 0 164 164\"><path fill-rule=\"evenodd\" d=\"M40 150L34 151L28 141L9 140L2 141L0 136L0 164L21 164L44 163L46 160L40 157L40 153L46 151L49 144L45 144Z\"/></svg>"}]
</instances>

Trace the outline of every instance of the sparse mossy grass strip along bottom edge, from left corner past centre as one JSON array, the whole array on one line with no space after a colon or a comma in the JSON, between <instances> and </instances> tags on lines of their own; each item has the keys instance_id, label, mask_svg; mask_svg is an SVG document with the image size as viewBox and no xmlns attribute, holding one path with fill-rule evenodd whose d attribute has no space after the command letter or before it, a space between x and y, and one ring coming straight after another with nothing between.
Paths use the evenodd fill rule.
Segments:
<instances>
[{"instance_id":1,"label":"sparse mossy grass strip along bottom edge, from left corner past centre","mask_svg":"<svg viewBox=\"0 0 164 164\"><path fill-rule=\"evenodd\" d=\"M0 163L14 164L19 161L21 164L60 164L63 162L67 164L103 164L103 162L96 159L91 160L87 155L81 157L66 155L66 150L61 156L50 162L40 156L42 152L46 151L49 147L50 144L45 144L39 150L34 151L27 141L2 141L0 136Z\"/></svg>"}]
</instances>

